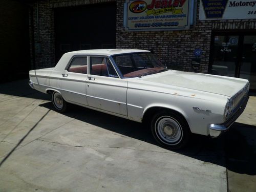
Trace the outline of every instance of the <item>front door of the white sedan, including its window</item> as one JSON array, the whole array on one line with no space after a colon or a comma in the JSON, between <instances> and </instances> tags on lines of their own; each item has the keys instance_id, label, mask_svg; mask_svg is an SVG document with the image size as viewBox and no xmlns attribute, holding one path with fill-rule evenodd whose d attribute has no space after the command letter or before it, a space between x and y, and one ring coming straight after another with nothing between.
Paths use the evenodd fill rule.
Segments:
<instances>
[{"instance_id":1,"label":"front door of the white sedan, including its window","mask_svg":"<svg viewBox=\"0 0 256 192\"><path fill-rule=\"evenodd\" d=\"M86 92L89 106L127 116L127 81L117 76L109 58L90 56Z\"/></svg>"}]
</instances>

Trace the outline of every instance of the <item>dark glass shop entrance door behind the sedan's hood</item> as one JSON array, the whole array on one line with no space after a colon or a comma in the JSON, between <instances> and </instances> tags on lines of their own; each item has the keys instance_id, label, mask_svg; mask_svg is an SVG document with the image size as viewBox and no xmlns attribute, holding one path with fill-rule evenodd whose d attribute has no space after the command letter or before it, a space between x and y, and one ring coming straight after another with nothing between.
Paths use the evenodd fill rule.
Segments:
<instances>
[{"instance_id":1,"label":"dark glass shop entrance door behind the sedan's hood","mask_svg":"<svg viewBox=\"0 0 256 192\"><path fill-rule=\"evenodd\" d=\"M214 33L209 73L248 79L256 90L255 33Z\"/></svg>"}]
</instances>

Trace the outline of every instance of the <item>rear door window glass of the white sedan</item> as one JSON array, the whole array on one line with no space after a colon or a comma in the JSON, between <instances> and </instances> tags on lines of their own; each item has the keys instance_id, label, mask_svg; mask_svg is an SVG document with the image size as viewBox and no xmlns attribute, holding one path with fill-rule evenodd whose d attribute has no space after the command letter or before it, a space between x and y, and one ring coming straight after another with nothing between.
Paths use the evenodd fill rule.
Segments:
<instances>
[{"instance_id":1,"label":"rear door window glass of the white sedan","mask_svg":"<svg viewBox=\"0 0 256 192\"><path fill-rule=\"evenodd\" d=\"M74 57L70 63L68 71L87 74L87 57Z\"/></svg>"}]
</instances>

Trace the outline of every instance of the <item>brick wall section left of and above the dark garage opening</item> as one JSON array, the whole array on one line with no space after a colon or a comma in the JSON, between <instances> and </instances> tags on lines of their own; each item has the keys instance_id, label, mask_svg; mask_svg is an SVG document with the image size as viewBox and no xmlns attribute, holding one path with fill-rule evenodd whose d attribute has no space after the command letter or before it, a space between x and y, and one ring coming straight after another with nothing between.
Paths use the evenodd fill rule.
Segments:
<instances>
[{"instance_id":1,"label":"brick wall section left of and above the dark garage opening","mask_svg":"<svg viewBox=\"0 0 256 192\"><path fill-rule=\"evenodd\" d=\"M34 38L34 42L39 42L41 45L41 52L35 53L35 68L41 69L54 67L57 63L57 61L55 61L54 8L80 6L105 2L115 2L115 0L48 0L38 1L38 5L37 2L30 4L30 6L33 7L34 26L34 32L33 34L31 34L31 38ZM39 25L37 25L37 8L39 10Z\"/></svg>"}]
</instances>

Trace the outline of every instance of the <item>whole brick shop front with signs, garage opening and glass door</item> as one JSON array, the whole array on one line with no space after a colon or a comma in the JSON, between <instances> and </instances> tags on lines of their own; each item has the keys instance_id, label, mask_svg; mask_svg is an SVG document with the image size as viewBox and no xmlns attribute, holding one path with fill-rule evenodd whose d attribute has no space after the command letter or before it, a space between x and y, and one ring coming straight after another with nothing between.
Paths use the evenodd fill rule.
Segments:
<instances>
[{"instance_id":1,"label":"whole brick shop front with signs, garage opening and glass door","mask_svg":"<svg viewBox=\"0 0 256 192\"><path fill-rule=\"evenodd\" d=\"M32 66L53 67L61 54L78 49L146 49L152 50L169 68L247 78L251 89L256 90L256 5L242 0L230 2L33 1ZM239 14L232 15L231 8ZM157 26L164 15L160 10L167 15L163 29ZM146 17L132 23L137 12L146 13L155 28L143 30L150 22ZM179 26L175 19L167 19L175 14L188 18Z\"/></svg>"}]
</instances>

